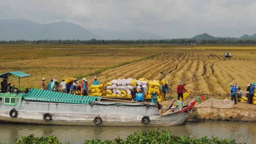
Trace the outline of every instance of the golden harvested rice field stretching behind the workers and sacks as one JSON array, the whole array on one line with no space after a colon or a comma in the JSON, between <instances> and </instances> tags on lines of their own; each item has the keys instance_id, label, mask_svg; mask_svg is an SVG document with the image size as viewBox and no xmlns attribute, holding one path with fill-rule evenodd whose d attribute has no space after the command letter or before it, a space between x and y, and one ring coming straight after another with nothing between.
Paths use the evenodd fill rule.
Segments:
<instances>
[{"instance_id":1,"label":"golden harvested rice field stretching behind the workers and sacks","mask_svg":"<svg viewBox=\"0 0 256 144\"><path fill-rule=\"evenodd\" d=\"M43 77L49 83L55 77L60 82L86 75L89 85L94 77L100 83L145 77L166 79L169 97L177 97L182 81L191 96L223 98L230 95L230 83L245 91L256 80L255 45L0 45L0 50L0 73L20 70L33 75L21 79L23 89L40 88ZM224 57L227 51L232 58Z\"/></svg>"}]
</instances>

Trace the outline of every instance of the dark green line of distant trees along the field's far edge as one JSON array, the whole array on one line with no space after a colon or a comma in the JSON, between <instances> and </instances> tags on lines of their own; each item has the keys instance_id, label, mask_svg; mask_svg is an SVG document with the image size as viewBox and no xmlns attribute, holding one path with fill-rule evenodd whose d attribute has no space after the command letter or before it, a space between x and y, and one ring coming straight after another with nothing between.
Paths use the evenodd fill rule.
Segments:
<instances>
[{"instance_id":1,"label":"dark green line of distant trees along the field's far edge","mask_svg":"<svg viewBox=\"0 0 256 144\"><path fill-rule=\"evenodd\" d=\"M165 39L165 40L10 40L0 44L256 44L256 39L214 38L214 39Z\"/></svg>"}]
</instances>

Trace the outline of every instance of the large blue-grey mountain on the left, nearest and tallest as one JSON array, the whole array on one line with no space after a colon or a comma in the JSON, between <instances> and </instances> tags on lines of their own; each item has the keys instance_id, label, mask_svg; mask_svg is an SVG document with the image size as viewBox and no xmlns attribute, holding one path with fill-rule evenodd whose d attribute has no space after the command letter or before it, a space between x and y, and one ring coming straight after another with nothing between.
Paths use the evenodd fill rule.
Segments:
<instances>
[{"instance_id":1,"label":"large blue-grey mountain on the left, nearest and tallest","mask_svg":"<svg viewBox=\"0 0 256 144\"><path fill-rule=\"evenodd\" d=\"M27 19L0 19L0 40L90 40L101 37L71 22L39 24Z\"/></svg>"}]
</instances>

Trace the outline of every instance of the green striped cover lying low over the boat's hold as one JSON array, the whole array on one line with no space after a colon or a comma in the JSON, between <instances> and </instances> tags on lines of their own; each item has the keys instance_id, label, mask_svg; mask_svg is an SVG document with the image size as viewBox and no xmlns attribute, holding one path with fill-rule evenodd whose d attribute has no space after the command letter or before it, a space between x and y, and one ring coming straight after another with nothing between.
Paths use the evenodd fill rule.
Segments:
<instances>
[{"instance_id":1,"label":"green striped cover lying low over the boat's hold","mask_svg":"<svg viewBox=\"0 0 256 144\"><path fill-rule=\"evenodd\" d=\"M46 102L64 102L73 104L89 104L95 101L96 97L71 95L67 93L53 92L49 90L40 90L33 88L23 96L26 100L46 101Z\"/></svg>"}]
</instances>

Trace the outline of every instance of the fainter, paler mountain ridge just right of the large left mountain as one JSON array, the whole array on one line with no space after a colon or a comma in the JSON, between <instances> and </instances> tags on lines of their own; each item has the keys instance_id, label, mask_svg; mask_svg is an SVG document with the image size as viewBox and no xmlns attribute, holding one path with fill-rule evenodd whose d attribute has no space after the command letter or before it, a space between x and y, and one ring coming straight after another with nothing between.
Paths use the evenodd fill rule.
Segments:
<instances>
[{"instance_id":1,"label":"fainter, paler mountain ridge just right of the large left mountain","mask_svg":"<svg viewBox=\"0 0 256 144\"><path fill-rule=\"evenodd\" d=\"M90 32L99 35L104 40L149 40L149 39L170 39L154 33L147 33L145 31L111 31L108 29L88 29Z\"/></svg>"}]
</instances>

